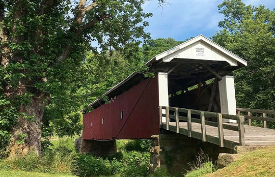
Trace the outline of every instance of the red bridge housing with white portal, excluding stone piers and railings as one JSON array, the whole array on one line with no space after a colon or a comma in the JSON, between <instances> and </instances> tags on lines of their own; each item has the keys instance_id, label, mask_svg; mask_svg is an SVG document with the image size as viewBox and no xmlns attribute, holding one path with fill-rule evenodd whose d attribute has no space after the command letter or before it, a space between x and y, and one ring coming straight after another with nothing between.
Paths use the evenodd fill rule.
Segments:
<instances>
[{"instance_id":1,"label":"red bridge housing with white portal, excluding stone piers and railings","mask_svg":"<svg viewBox=\"0 0 275 177\"><path fill-rule=\"evenodd\" d=\"M236 115L232 71L247 62L203 35L156 55L146 65L155 77L132 73L104 94L109 103L98 99L89 105L94 110L84 114L83 139L140 139L160 134L160 124L167 121L165 107L160 106ZM205 119L217 122L213 116Z\"/></svg>"}]
</instances>

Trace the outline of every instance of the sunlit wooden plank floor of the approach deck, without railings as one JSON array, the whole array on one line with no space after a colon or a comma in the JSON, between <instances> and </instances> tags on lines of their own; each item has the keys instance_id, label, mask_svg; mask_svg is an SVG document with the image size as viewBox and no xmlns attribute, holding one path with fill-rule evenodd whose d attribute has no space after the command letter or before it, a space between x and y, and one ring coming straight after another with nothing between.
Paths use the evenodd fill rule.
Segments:
<instances>
[{"instance_id":1,"label":"sunlit wooden plank floor of the approach deck, without railings","mask_svg":"<svg viewBox=\"0 0 275 177\"><path fill-rule=\"evenodd\" d=\"M224 123L225 124L225 123ZM238 124L227 124L227 125L233 125L238 127ZM166 123L162 122L162 128L166 129ZM187 132L187 122L180 122L180 133L185 134L185 131ZM249 125L244 125L245 133L245 145L249 146L271 146L275 145L275 130L273 129L267 129L267 128L261 128L261 127L254 127ZM174 131L176 130L176 123L170 122L169 123L169 130ZM201 124L192 122L191 124L191 130L192 134L201 134ZM206 135L211 137L218 138L218 128L213 126L205 126ZM239 143L239 133L237 131L227 130L224 129L224 139L228 140L229 142L235 142L232 143L232 145L225 145L227 147L231 147L233 149L234 145L238 145ZM174 131L176 132L176 131ZM196 133L197 132L197 133ZM185 134L186 135L186 134ZM196 135L192 137L196 138ZM200 137L197 136L199 139ZM208 138L209 139L209 138ZM208 140L206 140L208 141Z\"/></svg>"}]
</instances>

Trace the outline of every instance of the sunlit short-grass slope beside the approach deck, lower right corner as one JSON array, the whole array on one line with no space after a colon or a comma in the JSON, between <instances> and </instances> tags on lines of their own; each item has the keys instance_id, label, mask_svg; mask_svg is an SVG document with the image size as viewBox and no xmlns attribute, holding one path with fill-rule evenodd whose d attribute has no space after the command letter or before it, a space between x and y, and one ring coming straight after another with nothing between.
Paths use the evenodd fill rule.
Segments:
<instances>
[{"instance_id":1,"label":"sunlit short-grass slope beside the approach deck, lower right corner","mask_svg":"<svg viewBox=\"0 0 275 177\"><path fill-rule=\"evenodd\" d=\"M236 162L203 177L273 177L275 176L275 147L247 153Z\"/></svg>"}]
</instances>

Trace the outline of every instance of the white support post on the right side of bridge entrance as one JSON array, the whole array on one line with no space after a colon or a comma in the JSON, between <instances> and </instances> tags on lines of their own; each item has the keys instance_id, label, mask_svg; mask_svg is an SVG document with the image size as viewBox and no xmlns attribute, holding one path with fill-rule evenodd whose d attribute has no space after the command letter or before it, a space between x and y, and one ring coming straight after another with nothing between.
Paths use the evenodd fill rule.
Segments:
<instances>
[{"instance_id":1,"label":"white support post on the right side of bridge entrance","mask_svg":"<svg viewBox=\"0 0 275 177\"><path fill-rule=\"evenodd\" d=\"M233 76L223 76L218 81L219 100L221 102L221 113L236 115L236 97ZM223 119L223 122L237 123L235 120Z\"/></svg>"}]
</instances>

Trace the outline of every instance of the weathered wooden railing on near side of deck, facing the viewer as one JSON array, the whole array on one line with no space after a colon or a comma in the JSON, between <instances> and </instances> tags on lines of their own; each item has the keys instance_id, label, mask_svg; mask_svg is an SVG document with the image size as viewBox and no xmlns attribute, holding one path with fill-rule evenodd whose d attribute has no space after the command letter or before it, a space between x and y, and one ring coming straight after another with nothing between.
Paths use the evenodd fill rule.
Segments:
<instances>
[{"instance_id":1,"label":"weathered wooden railing on near side of deck, facing the viewer","mask_svg":"<svg viewBox=\"0 0 275 177\"><path fill-rule=\"evenodd\" d=\"M162 110L166 110L165 113L162 113ZM170 111L173 112L173 114L170 114ZM162 122L162 117L166 117L166 122ZM216 117L217 122L206 121L205 117ZM175 120L176 126L170 126L170 119ZM236 120L238 126L225 124L223 123L223 119ZM187 122L187 129L180 127L180 121ZM235 145L245 145L243 122L244 116L242 115L229 115L216 112L200 111L169 106L159 107L159 125L161 128L174 131L176 133L184 134L188 137L201 139L202 141L211 142L221 147L228 147L231 149L234 148ZM201 124L201 133L192 130L192 123ZM206 125L217 127L218 137L208 135L205 129ZM224 139L224 129L237 131L239 135L239 143Z\"/></svg>"}]
</instances>

